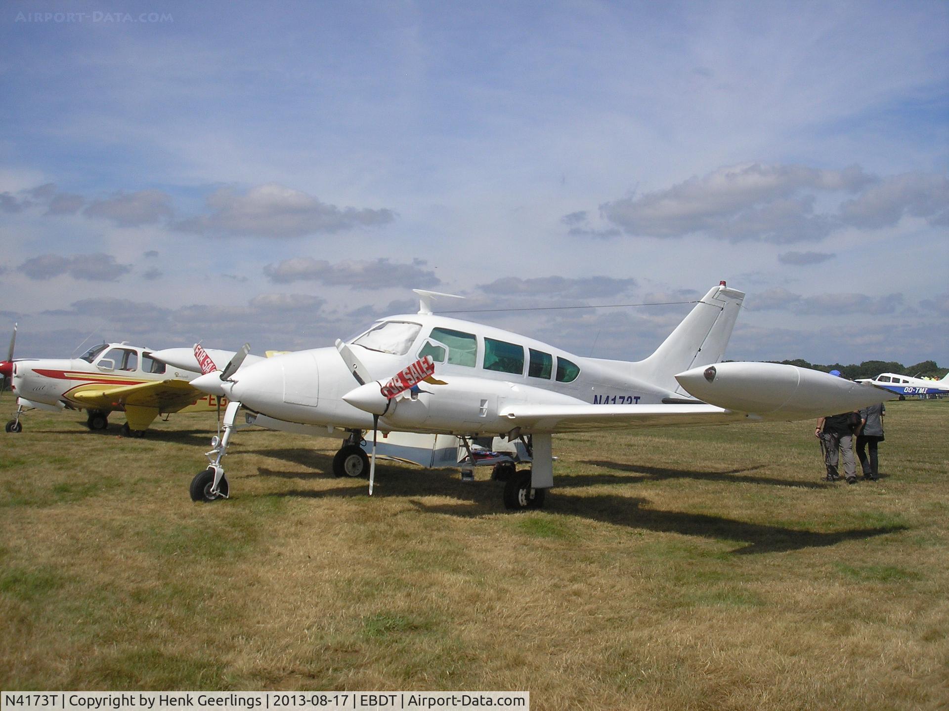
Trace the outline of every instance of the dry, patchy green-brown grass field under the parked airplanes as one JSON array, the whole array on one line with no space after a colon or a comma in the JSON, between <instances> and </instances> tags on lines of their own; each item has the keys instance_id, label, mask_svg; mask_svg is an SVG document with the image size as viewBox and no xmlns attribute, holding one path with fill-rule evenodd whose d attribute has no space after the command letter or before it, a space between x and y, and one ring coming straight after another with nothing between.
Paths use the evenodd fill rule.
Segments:
<instances>
[{"instance_id":1,"label":"dry, patchy green-brown grass field under the parked airplanes","mask_svg":"<svg viewBox=\"0 0 949 711\"><path fill-rule=\"evenodd\" d=\"M9 400L7 401L9 405ZM812 423L559 436L557 487L238 432L31 412L0 439L0 688L530 690L534 709L949 707L949 402L887 404L882 480Z\"/></svg>"}]
</instances>

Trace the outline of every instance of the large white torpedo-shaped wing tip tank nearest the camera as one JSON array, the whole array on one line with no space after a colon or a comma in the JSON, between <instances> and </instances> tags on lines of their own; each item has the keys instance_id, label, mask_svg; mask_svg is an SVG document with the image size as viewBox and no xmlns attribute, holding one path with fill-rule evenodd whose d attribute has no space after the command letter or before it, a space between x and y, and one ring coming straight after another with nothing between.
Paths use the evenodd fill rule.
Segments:
<instances>
[{"instance_id":1,"label":"large white torpedo-shaped wing tip tank nearest the camera","mask_svg":"<svg viewBox=\"0 0 949 711\"><path fill-rule=\"evenodd\" d=\"M859 410L896 397L874 386L780 363L716 363L680 373L676 380L711 405L782 419Z\"/></svg>"}]
</instances>

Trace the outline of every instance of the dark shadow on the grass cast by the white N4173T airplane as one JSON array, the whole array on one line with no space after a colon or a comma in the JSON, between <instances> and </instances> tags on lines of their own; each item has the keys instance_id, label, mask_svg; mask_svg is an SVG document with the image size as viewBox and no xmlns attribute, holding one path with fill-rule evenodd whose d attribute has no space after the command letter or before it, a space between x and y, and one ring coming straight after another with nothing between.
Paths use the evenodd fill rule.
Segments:
<instances>
[{"instance_id":1,"label":"dark shadow on the grass cast by the white N4173T airplane","mask_svg":"<svg viewBox=\"0 0 949 711\"><path fill-rule=\"evenodd\" d=\"M326 459L325 471L329 472L330 458L324 455L316 455L316 458L319 457ZM680 475L698 474L699 472L680 472ZM720 477L727 481L734 481L726 474L727 472L713 474L710 478ZM306 474L299 472L280 472L263 468L258 470L258 475L285 479L308 478ZM321 472L314 472L313 476L333 478L332 474ZM599 477L590 477L587 483L600 482L600 479ZM623 483L628 483L629 481L636 482L640 478L620 479L623 480ZM820 548L836 545L847 540L865 540L906 529L906 526L890 525L821 533L776 524L735 520L723 516L690 514L682 511L661 511L649 508L649 501L639 497L624 497L613 494L577 496L565 491L570 487L586 485L583 480L586 480L586 477L561 477L557 481L558 486L550 492L544 510L553 515L598 520L612 525L626 526L630 529L735 541L740 545L731 553L738 555ZM296 489L284 491L278 496L312 499L364 497L368 491L368 484L365 480L356 481L359 483L354 482L353 485L334 486L321 490ZM560 484L563 484L563 486ZM407 468L385 465L377 465L376 468L375 496L385 499L407 499L416 510L425 513L462 518L495 516L504 512L500 501L502 487L502 483L486 481L461 483L458 481L456 472L444 469L413 471ZM456 499L458 502L429 504L420 501L417 498L419 496L443 496ZM521 516L523 514L512 513L511 515Z\"/></svg>"}]
</instances>

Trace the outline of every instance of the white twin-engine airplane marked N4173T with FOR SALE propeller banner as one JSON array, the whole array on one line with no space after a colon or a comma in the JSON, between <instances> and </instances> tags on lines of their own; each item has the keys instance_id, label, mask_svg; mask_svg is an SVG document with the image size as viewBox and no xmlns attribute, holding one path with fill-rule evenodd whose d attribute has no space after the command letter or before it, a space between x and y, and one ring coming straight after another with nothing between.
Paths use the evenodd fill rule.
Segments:
<instances>
[{"instance_id":1,"label":"white twin-engine airplane marked N4173T with FOR SALE propeller banner","mask_svg":"<svg viewBox=\"0 0 949 711\"><path fill-rule=\"evenodd\" d=\"M195 476L195 501L227 498L221 461L237 410L254 424L344 438L337 476L369 470L376 433L454 435L472 454L475 438L519 441L531 467L510 460L509 508L538 508L553 486L551 435L602 428L713 425L794 420L865 407L895 397L817 371L774 363L722 363L744 294L725 283L696 303L659 349L626 362L574 356L533 338L433 314L437 292L416 290L419 313L381 319L349 343L299 351L245 366L228 377L206 374L198 390L230 399L211 464ZM372 461L360 442L372 431ZM471 456L474 460L474 456Z\"/></svg>"}]
</instances>

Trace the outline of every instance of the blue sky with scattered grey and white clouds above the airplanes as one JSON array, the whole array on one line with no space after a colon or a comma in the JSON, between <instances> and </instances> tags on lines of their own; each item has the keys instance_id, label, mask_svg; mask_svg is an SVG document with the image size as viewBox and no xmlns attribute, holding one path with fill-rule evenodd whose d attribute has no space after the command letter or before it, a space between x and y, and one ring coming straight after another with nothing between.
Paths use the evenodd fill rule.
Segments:
<instances>
[{"instance_id":1,"label":"blue sky with scattered grey and white clouds above the airplanes","mask_svg":"<svg viewBox=\"0 0 949 711\"><path fill-rule=\"evenodd\" d=\"M731 358L949 363L944 2L13 0L0 68L18 356L724 279ZM478 318L638 358L688 308Z\"/></svg>"}]
</instances>

